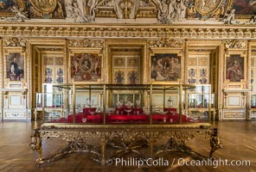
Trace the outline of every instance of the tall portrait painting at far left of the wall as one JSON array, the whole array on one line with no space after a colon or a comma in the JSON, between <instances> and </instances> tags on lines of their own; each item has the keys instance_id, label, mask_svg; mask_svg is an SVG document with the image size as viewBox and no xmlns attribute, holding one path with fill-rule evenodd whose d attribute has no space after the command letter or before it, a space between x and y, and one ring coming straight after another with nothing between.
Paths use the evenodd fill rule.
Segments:
<instances>
[{"instance_id":1,"label":"tall portrait painting at far left of the wall","mask_svg":"<svg viewBox=\"0 0 256 172\"><path fill-rule=\"evenodd\" d=\"M21 52L6 55L6 74L10 81L21 81L24 78L24 55Z\"/></svg>"}]
</instances>

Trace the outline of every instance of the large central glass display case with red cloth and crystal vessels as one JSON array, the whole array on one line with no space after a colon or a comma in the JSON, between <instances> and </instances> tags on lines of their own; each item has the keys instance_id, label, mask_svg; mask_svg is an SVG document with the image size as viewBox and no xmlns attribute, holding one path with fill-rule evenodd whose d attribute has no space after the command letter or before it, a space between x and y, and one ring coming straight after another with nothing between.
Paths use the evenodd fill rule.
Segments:
<instances>
[{"instance_id":1,"label":"large central glass display case with red cloth and crystal vessels","mask_svg":"<svg viewBox=\"0 0 256 172\"><path fill-rule=\"evenodd\" d=\"M184 101L186 93L190 89L196 90L194 94L189 94L190 112L200 108L207 114L212 102L210 86L195 87L188 84L47 83L42 88L43 120L53 123L91 125L202 122L185 113L188 107Z\"/></svg>"}]
</instances>

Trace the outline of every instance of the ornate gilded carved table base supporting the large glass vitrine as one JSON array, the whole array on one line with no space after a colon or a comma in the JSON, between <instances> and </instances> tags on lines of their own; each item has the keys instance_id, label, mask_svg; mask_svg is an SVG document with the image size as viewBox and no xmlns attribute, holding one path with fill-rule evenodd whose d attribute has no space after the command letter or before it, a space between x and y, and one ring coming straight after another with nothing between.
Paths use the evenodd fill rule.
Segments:
<instances>
[{"instance_id":1,"label":"ornate gilded carved table base supporting the large glass vitrine","mask_svg":"<svg viewBox=\"0 0 256 172\"><path fill-rule=\"evenodd\" d=\"M61 138L67 142L67 147L48 158L38 158L37 163L52 162L57 157L68 153L83 151L92 153L93 160L105 164L106 157L117 157L126 152L135 153L140 158L157 157L166 151L196 153L186 145L186 142L199 135L204 135L210 141L210 157L213 157L214 151L221 149L217 132L210 125L95 126L94 128L87 125L46 124L35 131L30 146L42 156L42 139ZM98 140L99 144L90 144L92 138ZM156 144L159 138L168 138L168 141L154 150L153 144ZM150 151L145 152L144 148L149 148ZM197 155L201 156L198 153Z\"/></svg>"}]
</instances>

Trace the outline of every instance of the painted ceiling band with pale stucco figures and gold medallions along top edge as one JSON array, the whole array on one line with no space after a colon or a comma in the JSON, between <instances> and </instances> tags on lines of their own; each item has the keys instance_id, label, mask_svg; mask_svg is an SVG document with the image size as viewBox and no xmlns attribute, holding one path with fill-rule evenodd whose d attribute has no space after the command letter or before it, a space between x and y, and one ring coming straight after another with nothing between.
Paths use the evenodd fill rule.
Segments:
<instances>
[{"instance_id":1,"label":"painted ceiling band with pale stucco figures and gold medallions along top edge","mask_svg":"<svg viewBox=\"0 0 256 172\"><path fill-rule=\"evenodd\" d=\"M236 15L256 12L256 0L0 0L0 16L14 13L14 6L29 18L73 18L74 22L92 22L95 17L157 17L160 22L173 22L213 15L219 10L225 13L235 9Z\"/></svg>"}]
</instances>

